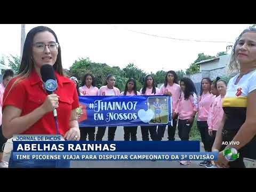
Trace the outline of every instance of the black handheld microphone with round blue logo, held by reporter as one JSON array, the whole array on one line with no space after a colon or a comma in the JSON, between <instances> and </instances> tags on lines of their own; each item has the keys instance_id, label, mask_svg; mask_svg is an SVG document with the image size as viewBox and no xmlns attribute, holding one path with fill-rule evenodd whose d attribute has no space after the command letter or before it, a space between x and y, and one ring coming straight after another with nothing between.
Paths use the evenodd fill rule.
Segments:
<instances>
[{"instance_id":1,"label":"black handheld microphone with round blue logo, held by reporter","mask_svg":"<svg viewBox=\"0 0 256 192\"><path fill-rule=\"evenodd\" d=\"M45 64L41 67L40 73L42 76L42 80L44 83L44 89L47 94L53 94L54 91L58 88L58 83L56 81L56 76L53 70L53 67L49 64ZM57 110L53 110L53 116L55 119L56 127L57 127L57 134L59 133L58 122L57 122Z\"/></svg>"}]
</instances>

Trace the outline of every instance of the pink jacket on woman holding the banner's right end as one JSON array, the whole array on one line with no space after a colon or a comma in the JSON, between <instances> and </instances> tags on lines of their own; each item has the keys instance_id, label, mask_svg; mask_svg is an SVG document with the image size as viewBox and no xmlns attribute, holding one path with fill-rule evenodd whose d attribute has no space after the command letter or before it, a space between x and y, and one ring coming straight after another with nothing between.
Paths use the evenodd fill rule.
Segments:
<instances>
[{"instance_id":1,"label":"pink jacket on woman holding the banner's right end","mask_svg":"<svg viewBox=\"0 0 256 192\"><path fill-rule=\"evenodd\" d=\"M177 83L173 83L172 86L167 84L166 87L162 85L160 87L160 93L165 94L165 91L172 93L172 110L174 111L178 105L178 100L181 93L180 85L178 85Z\"/></svg>"}]
</instances>

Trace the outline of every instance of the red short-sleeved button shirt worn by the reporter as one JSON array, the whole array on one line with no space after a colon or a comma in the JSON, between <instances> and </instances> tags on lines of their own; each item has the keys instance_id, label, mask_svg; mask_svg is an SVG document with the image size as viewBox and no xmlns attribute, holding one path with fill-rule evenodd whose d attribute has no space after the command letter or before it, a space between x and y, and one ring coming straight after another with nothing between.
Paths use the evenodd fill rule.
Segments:
<instances>
[{"instance_id":1,"label":"red short-sleeved button shirt worn by the reporter","mask_svg":"<svg viewBox=\"0 0 256 192\"><path fill-rule=\"evenodd\" d=\"M78 108L79 102L75 84L69 78L60 76L56 72L55 76L58 82L58 89L55 91L55 94L60 97L59 107L57 108L58 124L60 134L63 136L70 129L69 119L71 110ZM43 81L35 70L33 70L28 78L12 86L17 78L11 79L5 89L3 109L6 106L14 106L21 109L21 116L24 116L41 106L47 97L47 93L43 88ZM53 112L46 113L21 134L57 134Z\"/></svg>"}]
</instances>

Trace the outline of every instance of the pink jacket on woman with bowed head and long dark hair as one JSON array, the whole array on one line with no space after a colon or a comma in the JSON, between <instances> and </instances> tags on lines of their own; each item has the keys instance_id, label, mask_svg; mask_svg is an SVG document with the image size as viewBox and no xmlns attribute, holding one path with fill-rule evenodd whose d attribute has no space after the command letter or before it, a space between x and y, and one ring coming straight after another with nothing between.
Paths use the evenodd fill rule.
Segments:
<instances>
[{"instance_id":1,"label":"pink jacket on woman with bowed head and long dark hair","mask_svg":"<svg viewBox=\"0 0 256 192\"><path fill-rule=\"evenodd\" d=\"M188 100L185 100L184 93L182 92L175 113L179 114L179 119L185 120L193 117L193 112L197 111L197 108L198 103L196 94L189 95Z\"/></svg>"}]
</instances>

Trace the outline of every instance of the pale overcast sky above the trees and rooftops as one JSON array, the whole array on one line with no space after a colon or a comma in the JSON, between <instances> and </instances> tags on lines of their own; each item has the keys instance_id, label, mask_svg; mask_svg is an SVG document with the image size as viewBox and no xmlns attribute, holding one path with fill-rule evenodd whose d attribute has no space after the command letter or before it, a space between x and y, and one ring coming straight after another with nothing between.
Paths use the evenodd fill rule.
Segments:
<instances>
[{"instance_id":1,"label":"pale overcast sky above the trees and rooftops","mask_svg":"<svg viewBox=\"0 0 256 192\"><path fill-rule=\"evenodd\" d=\"M134 63L150 73L157 70L185 70L204 52L216 55L226 51L242 31L250 25L59 25L26 24L26 34L36 26L55 31L61 46L62 65L69 68L78 58L124 68ZM205 43L156 37L218 41ZM0 56L20 55L21 25L0 25Z\"/></svg>"}]
</instances>

